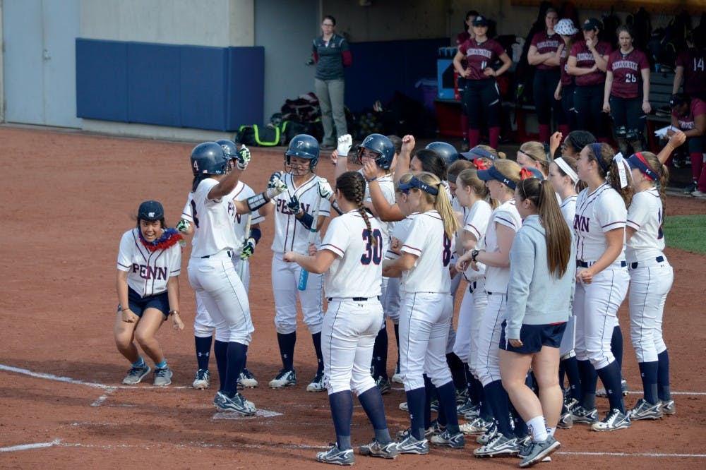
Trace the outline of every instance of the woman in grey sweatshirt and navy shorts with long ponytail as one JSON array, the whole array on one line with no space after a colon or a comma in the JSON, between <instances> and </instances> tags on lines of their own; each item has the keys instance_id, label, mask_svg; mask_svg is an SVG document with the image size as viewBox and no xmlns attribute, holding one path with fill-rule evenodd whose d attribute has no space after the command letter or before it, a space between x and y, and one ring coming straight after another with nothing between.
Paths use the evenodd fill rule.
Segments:
<instances>
[{"instance_id":1,"label":"woman in grey sweatshirt and navy shorts with long ponytail","mask_svg":"<svg viewBox=\"0 0 706 470\"><path fill-rule=\"evenodd\" d=\"M562 404L559 346L573 290L574 246L549 181L520 181L515 207L523 220L510 248L500 370L503 387L532 433L530 444L520 452L520 466L526 467L560 447L554 439ZM530 367L541 401L526 385Z\"/></svg>"}]
</instances>

